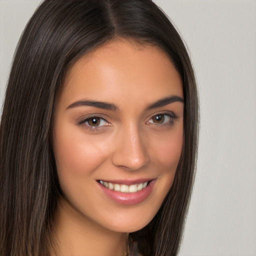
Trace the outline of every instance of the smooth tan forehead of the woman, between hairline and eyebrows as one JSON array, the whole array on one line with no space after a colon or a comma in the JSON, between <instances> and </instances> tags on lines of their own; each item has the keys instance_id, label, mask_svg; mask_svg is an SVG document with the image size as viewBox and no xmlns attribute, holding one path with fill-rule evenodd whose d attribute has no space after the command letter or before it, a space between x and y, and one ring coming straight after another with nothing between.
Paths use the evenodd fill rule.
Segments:
<instances>
[{"instance_id":1,"label":"smooth tan forehead of the woman, between hairline and eyebrows","mask_svg":"<svg viewBox=\"0 0 256 256\"><path fill-rule=\"evenodd\" d=\"M169 57L158 47L132 40L113 40L82 56L68 70L62 96L120 101L175 94L182 83Z\"/></svg>"}]
</instances>

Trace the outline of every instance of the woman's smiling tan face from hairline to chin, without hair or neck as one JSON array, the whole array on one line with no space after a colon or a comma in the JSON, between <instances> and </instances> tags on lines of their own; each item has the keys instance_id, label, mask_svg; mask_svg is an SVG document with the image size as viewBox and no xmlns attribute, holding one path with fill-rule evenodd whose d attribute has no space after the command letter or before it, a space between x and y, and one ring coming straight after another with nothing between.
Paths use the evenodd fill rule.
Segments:
<instances>
[{"instance_id":1,"label":"woman's smiling tan face from hairline to chin, without hair or neck","mask_svg":"<svg viewBox=\"0 0 256 256\"><path fill-rule=\"evenodd\" d=\"M74 218L136 231L173 182L183 136L180 77L157 47L111 41L68 71L53 133L61 200Z\"/></svg>"}]
</instances>

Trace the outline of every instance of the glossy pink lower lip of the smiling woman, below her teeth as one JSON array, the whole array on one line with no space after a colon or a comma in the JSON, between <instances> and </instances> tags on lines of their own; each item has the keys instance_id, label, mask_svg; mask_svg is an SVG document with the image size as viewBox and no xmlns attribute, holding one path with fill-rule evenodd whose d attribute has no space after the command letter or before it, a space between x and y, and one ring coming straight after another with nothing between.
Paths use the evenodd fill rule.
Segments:
<instances>
[{"instance_id":1,"label":"glossy pink lower lip of the smiling woman, below her teeth","mask_svg":"<svg viewBox=\"0 0 256 256\"><path fill-rule=\"evenodd\" d=\"M149 184L146 187L134 193L123 193L120 191L115 191L115 190L106 188L100 183L98 184L100 188L103 190L104 194L108 196L110 199L112 199L113 201L123 205L134 205L144 201L150 195L150 193L152 192L154 183L155 183L155 180L152 180L149 182Z\"/></svg>"}]
</instances>

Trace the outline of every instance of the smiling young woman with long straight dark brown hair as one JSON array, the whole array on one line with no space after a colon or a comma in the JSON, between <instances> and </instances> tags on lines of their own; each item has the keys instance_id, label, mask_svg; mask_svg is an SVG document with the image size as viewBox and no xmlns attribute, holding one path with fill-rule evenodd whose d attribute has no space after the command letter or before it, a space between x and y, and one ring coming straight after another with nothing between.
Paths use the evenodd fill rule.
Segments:
<instances>
[{"instance_id":1,"label":"smiling young woman with long straight dark brown hair","mask_svg":"<svg viewBox=\"0 0 256 256\"><path fill-rule=\"evenodd\" d=\"M198 103L150 0L44 0L0 126L0 255L177 255Z\"/></svg>"}]
</instances>

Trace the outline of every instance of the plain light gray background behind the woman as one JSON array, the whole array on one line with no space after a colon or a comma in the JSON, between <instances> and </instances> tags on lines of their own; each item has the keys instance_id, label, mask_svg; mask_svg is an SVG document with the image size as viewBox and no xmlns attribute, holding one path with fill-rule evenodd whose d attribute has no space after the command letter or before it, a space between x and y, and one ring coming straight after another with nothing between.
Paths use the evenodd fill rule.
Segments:
<instances>
[{"instance_id":1,"label":"plain light gray background behind the woman","mask_svg":"<svg viewBox=\"0 0 256 256\"><path fill-rule=\"evenodd\" d=\"M0 0L0 103L39 0ZM256 1L155 0L186 41L200 94L197 174L179 256L256 255Z\"/></svg>"}]
</instances>

